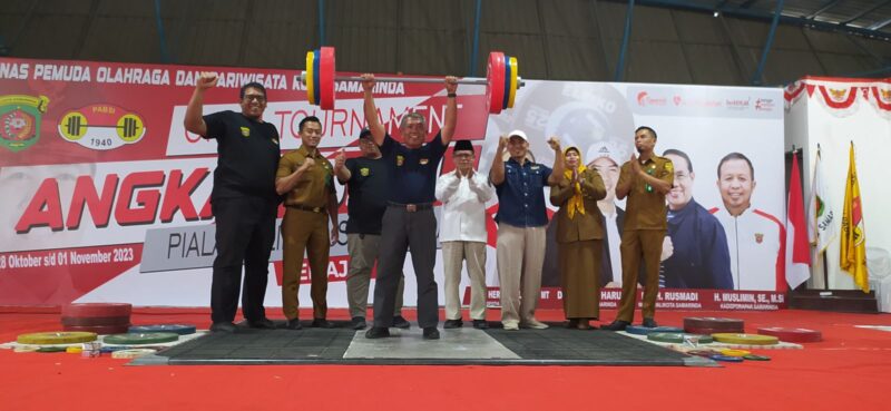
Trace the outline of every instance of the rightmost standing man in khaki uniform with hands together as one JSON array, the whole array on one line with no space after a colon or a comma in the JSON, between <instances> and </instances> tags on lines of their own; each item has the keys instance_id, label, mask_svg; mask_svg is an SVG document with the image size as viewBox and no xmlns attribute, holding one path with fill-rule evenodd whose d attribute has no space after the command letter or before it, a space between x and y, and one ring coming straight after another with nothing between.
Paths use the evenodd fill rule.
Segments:
<instances>
[{"instance_id":1,"label":"rightmost standing man in khaki uniform with hands together","mask_svg":"<svg viewBox=\"0 0 891 411\"><path fill-rule=\"evenodd\" d=\"M659 287L659 256L666 218L665 195L674 183L672 160L653 153L656 147L656 131L649 127L638 127L634 133L634 145L639 156L621 165L616 197L628 197L625 207L625 225L621 232L621 301L616 320L604 330L621 331L634 320L637 306L637 272L644 261L643 325L655 327L656 293Z\"/></svg>"}]
</instances>

